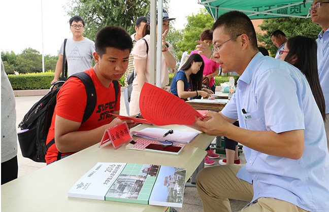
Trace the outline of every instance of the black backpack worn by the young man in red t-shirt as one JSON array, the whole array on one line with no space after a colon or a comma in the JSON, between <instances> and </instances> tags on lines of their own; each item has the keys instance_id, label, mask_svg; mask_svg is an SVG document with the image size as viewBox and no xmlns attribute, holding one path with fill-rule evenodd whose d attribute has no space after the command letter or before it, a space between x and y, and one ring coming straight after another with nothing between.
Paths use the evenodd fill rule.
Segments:
<instances>
[{"instance_id":1,"label":"black backpack worn by the young man in red t-shirt","mask_svg":"<svg viewBox=\"0 0 329 212\"><path fill-rule=\"evenodd\" d=\"M92 79L87 73L80 72L72 75L71 77L79 78L87 92L87 104L83 115L82 123L88 120L96 107L96 90ZM117 101L119 93L118 81L113 81L115 89L115 102ZM22 122L18 125L22 129L18 132L18 142L22 151L23 157L30 158L36 162L46 162L45 155L49 147L51 147L55 140L53 139L46 145L46 139L54 109L56 105L56 96L60 87L50 91L38 102L24 116ZM60 159L61 153L58 153L57 159Z\"/></svg>"}]
</instances>

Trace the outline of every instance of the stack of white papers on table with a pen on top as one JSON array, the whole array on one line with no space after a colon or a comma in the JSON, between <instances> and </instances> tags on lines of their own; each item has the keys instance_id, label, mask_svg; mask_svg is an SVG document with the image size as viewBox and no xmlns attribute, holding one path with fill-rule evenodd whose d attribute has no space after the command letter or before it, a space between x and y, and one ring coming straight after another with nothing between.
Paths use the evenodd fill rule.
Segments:
<instances>
[{"instance_id":1,"label":"stack of white papers on table with a pen on top","mask_svg":"<svg viewBox=\"0 0 329 212\"><path fill-rule=\"evenodd\" d=\"M139 131L132 131L131 134L147 139L169 140L170 142L179 143L190 143L199 134L199 132L174 130L172 134L163 137L166 132L168 132L168 129L147 127Z\"/></svg>"}]
</instances>

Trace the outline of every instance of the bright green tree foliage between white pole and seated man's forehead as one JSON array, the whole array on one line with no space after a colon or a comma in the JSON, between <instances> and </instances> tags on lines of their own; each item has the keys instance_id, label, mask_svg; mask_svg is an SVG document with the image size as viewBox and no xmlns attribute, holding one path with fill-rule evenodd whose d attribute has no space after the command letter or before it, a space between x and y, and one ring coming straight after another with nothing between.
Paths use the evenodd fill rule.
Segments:
<instances>
[{"instance_id":1,"label":"bright green tree foliage between white pole and seated man's forehead","mask_svg":"<svg viewBox=\"0 0 329 212\"><path fill-rule=\"evenodd\" d=\"M191 14L187 16L187 23L183 30L174 31L176 43L173 47L176 47L176 59L180 61L184 51L190 53L195 50L197 45L195 41L200 40L200 34L203 30L212 27L214 19L206 11L206 9L200 9L197 14ZM172 33L172 32L171 32Z\"/></svg>"}]
</instances>

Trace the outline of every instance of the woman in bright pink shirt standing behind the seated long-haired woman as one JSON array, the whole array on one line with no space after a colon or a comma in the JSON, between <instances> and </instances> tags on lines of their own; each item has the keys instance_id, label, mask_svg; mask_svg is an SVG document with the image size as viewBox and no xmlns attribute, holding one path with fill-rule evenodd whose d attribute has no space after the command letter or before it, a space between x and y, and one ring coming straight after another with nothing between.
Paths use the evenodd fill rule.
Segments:
<instances>
[{"instance_id":1,"label":"woman in bright pink shirt standing behind the seated long-haired woman","mask_svg":"<svg viewBox=\"0 0 329 212\"><path fill-rule=\"evenodd\" d=\"M209 47L212 45L212 32L210 29L205 29L203 32L201 32L200 40L205 42ZM198 50L194 50L190 53L199 53ZM215 85L215 76L219 74L219 64L215 61L208 59L204 55L202 55L202 58L205 62L204 72L203 72L203 81L202 83L204 85L208 85L211 90L215 93L216 85Z\"/></svg>"}]
</instances>

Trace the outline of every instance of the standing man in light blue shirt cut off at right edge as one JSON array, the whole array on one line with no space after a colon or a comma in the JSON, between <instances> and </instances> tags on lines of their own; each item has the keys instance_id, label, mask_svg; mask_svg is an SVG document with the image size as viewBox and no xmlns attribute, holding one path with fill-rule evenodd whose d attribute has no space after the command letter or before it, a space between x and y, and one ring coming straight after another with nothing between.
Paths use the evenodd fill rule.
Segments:
<instances>
[{"instance_id":1,"label":"standing man in light blue shirt cut off at right edge","mask_svg":"<svg viewBox=\"0 0 329 212\"><path fill-rule=\"evenodd\" d=\"M325 100L324 127L329 149L329 1L314 0L309 11L311 11L313 23L319 24L322 28L316 39L317 60L319 80Z\"/></svg>"}]
</instances>

